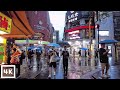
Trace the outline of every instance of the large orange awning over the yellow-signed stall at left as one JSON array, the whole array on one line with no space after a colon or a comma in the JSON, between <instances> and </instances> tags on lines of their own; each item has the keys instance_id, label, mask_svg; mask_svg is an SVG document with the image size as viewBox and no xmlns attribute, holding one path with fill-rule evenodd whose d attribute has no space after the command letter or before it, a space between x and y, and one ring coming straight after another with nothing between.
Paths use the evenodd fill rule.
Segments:
<instances>
[{"instance_id":1,"label":"large orange awning over the yellow-signed stall at left","mask_svg":"<svg viewBox=\"0 0 120 90\"><path fill-rule=\"evenodd\" d=\"M5 38L28 38L34 35L25 11L8 11L12 19L12 28L10 34L0 35Z\"/></svg>"}]
</instances>

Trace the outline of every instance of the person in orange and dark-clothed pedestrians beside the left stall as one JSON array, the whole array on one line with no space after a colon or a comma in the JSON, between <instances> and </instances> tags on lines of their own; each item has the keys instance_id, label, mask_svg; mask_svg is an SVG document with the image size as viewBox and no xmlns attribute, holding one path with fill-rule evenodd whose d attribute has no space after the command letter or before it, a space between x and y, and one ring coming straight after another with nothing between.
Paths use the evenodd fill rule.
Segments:
<instances>
[{"instance_id":1,"label":"person in orange and dark-clothed pedestrians beside the left stall","mask_svg":"<svg viewBox=\"0 0 120 90\"><path fill-rule=\"evenodd\" d=\"M33 61L33 56L36 54L36 61L37 61L37 66L39 67L40 64L40 59L41 59L41 54L42 51L36 50L36 53L34 53L32 50L28 50L27 55L25 54L24 50L21 50L20 47L16 44L13 44L12 47L10 48L10 56L7 60L7 64L9 65L15 65L17 68L17 74L16 77L20 76L20 66L23 64L23 61L26 61L28 64L28 68L31 69L33 66L32 61Z\"/></svg>"}]
</instances>

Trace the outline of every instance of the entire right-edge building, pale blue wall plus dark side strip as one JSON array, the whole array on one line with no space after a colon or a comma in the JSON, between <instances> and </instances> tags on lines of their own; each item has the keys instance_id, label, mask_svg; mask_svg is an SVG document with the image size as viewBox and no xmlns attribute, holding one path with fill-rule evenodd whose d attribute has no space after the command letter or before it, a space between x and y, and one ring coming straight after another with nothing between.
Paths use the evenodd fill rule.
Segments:
<instances>
[{"instance_id":1,"label":"entire right-edge building, pale blue wall plus dark side strip","mask_svg":"<svg viewBox=\"0 0 120 90\"><path fill-rule=\"evenodd\" d=\"M96 24L99 24L99 36L98 30L96 29L96 46L98 45L98 37L99 41L102 40L117 40L120 41L120 11L106 11L106 12L98 12L98 21ZM120 43L108 44L108 49L110 49L109 54L115 59L115 55L120 55ZM117 47L116 47L117 46ZM99 45L100 47L100 45Z\"/></svg>"}]
</instances>

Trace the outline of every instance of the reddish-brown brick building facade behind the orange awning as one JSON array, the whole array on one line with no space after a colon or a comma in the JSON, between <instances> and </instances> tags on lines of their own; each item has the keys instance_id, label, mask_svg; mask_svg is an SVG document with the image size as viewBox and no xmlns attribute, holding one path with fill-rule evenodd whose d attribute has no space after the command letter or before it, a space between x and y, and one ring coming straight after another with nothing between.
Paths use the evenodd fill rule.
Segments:
<instances>
[{"instance_id":1,"label":"reddish-brown brick building facade behind the orange awning","mask_svg":"<svg viewBox=\"0 0 120 90\"><path fill-rule=\"evenodd\" d=\"M48 11L26 11L28 20L36 35L33 39L51 42L52 24Z\"/></svg>"}]
</instances>

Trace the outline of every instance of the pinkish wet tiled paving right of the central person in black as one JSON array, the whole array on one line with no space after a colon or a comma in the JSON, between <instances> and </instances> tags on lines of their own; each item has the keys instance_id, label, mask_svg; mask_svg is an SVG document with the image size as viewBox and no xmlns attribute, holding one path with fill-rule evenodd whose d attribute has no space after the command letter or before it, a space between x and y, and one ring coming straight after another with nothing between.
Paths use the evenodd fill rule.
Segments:
<instances>
[{"instance_id":1,"label":"pinkish wet tiled paving right of the central person in black","mask_svg":"<svg viewBox=\"0 0 120 90\"><path fill-rule=\"evenodd\" d=\"M90 74L100 71L96 66L80 66L79 61L69 62L68 79L85 79ZM88 78L88 77L87 77Z\"/></svg>"}]
</instances>

